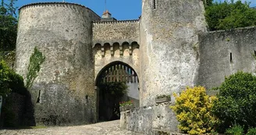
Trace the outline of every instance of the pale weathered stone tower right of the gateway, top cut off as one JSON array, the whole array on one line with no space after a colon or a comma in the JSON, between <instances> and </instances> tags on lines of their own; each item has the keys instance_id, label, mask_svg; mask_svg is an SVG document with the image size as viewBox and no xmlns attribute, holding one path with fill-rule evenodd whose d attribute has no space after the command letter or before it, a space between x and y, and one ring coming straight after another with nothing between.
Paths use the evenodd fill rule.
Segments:
<instances>
[{"instance_id":1,"label":"pale weathered stone tower right of the gateway, top cut off","mask_svg":"<svg viewBox=\"0 0 256 135\"><path fill-rule=\"evenodd\" d=\"M140 105L153 105L158 94L194 86L197 33L206 30L206 23L201 0L143 0L142 5Z\"/></svg>"}]
</instances>

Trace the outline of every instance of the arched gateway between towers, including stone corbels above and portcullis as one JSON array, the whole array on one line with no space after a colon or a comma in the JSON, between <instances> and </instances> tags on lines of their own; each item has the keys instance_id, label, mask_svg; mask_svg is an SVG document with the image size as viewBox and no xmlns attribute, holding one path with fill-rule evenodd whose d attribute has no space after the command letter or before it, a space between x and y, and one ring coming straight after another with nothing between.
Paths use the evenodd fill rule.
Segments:
<instances>
[{"instance_id":1,"label":"arched gateway between towers, including stone corbels above and portcullis","mask_svg":"<svg viewBox=\"0 0 256 135\"><path fill-rule=\"evenodd\" d=\"M139 44L97 43L93 49L98 120L119 119L120 101L132 100L139 106Z\"/></svg>"}]
</instances>

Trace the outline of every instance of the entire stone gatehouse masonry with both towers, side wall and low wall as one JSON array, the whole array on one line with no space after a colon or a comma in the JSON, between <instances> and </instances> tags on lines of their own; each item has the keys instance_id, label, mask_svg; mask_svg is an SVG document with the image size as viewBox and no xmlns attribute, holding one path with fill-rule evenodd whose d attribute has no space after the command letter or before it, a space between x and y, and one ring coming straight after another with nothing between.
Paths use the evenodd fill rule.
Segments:
<instances>
[{"instance_id":1,"label":"entire stone gatehouse masonry with both towers, side wall and low wall","mask_svg":"<svg viewBox=\"0 0 256 135\"><path fill-rule=\"evenodd\" d=\"M139 20L116 20L108 11L101 18L66 2L20 8L16 72L26 82L34 48L45 57L29 90L38 125L97 123L98 83L125 80L137 108L121 112L122 128L178 132L174 98L155 104L158 94L216 87L238 70L254 73L254 27L208 32L201 0L142 2Z\"/></svg>"}]
</instances>

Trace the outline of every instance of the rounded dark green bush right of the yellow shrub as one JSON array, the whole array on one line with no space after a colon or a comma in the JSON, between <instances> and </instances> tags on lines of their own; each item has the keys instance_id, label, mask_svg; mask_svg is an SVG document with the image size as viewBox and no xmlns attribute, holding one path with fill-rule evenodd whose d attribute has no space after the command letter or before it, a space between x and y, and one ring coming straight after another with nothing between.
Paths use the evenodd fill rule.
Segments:
<instances>
[{"instance_id":1,"label":"rounded dark green bush right of the yellow shrub","mask_svg":"<svg viewBox=\"0 0 256 135\"><path fill-rule=\"evenodd\" d=\"M214 101L212 112L221 120L219 130L224 131L235 124L256 126L256 76L251 73L235 73L221 84L218 101Z\"/></svg>"}]
</instances>

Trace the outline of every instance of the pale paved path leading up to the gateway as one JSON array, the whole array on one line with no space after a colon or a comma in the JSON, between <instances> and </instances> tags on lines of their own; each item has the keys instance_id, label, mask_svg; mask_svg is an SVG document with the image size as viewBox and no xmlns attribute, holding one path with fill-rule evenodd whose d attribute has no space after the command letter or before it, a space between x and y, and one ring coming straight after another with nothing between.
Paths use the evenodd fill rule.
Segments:
<instances>
[{"instance_id":1,"label":"pale paved path leading up to the gateway","mask_svg":"<svg viewBox=\"0 0 256 135\"><path fill-rule=\"evenodd\" d=\"M33 130L0 130L0 134L5 135L142 135L140 133L133 133L128 130L121 130L119 128L119 120L96 123L84 126L57 126L48 127L44 129Z\"/></svg>"}]
</instances>

